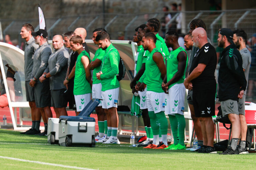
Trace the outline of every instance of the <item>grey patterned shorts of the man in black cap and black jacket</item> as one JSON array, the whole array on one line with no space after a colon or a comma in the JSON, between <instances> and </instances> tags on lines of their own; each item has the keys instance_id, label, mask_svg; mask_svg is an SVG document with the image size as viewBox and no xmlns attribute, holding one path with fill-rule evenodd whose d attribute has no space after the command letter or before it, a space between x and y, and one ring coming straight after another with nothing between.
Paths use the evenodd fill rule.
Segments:
<instances>
[{"instance_id":1,"label":"grey patterned shorts of the man in black cap and black jacket","mask_svg":"<svg viewBox=\"0 0 256 170\"><path fill-rule=\"evenodd\" d=\"M238 104L237 101L228 99L221 102L222 115L227 116L228 114L238 115Z\"/></svg>"}]
</instances>

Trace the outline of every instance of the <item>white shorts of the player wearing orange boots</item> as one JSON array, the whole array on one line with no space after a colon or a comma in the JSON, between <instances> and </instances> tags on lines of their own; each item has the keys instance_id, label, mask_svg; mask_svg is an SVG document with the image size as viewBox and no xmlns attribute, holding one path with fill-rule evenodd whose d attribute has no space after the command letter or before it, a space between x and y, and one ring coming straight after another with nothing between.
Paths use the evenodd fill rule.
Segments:
<instances>
[{"instance_id":1,"label":"white shorts of the player wearing orange boots","mask_svg":"<svg viewBox=\"0 0 256 170\"><path fill-rule=\"evenodd\" d=\"M147 91L147 109L155 113L165 111L165 93Z\"/></svg>"}]
</instances>

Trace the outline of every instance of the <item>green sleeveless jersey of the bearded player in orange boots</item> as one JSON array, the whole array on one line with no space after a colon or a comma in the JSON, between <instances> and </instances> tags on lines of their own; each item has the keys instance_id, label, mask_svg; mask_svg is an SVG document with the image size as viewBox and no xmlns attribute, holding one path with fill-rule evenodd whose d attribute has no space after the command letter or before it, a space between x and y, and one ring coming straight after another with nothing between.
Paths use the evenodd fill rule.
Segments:
<instances>
[{"instance_id":1,"label":"green sleeveless jersey of the bearded player in orange boots","mask_svg":"<svg viewBox=\"0 0 256 170\"><path fill-rule=\"evenodd\" d=\"M147 57L145 72L143 74L145 75L145 79L143 83L147 85L147 91L154 91L154 92L161 93L163 92L161 87L163 80L161 78L161 72L153 60L153 54L156 52L159 52L160 54L162 54L160 50L158 50L157 48L154 48ZM163 61L165 61L164 57L163 57Z\"/></svg>"}]
</instances>

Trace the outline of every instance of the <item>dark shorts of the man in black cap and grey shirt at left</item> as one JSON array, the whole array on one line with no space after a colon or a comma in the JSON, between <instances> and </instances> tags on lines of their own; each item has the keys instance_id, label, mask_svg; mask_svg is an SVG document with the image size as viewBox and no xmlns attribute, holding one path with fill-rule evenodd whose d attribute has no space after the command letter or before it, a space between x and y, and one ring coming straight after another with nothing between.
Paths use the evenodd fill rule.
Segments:
<instances>
[{"instance_id":1,"label":"dark shorts of the man in black cap and grey shirt at left","mask_svg":"<svg viewBox=\"0 0 256 170\"><path fill-rule=\"evenodd\" d=\"M37 107L51 107L51 92L49 80L37 82L34 87L35 91L35 105Z\"/></svg>"}]
</instances>

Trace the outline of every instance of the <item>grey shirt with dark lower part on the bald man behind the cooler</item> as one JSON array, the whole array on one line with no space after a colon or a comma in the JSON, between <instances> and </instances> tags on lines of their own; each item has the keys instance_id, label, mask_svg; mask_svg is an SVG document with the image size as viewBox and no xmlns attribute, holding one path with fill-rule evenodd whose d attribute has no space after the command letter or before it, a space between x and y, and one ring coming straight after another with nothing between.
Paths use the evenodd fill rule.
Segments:
<instances>
[{"instance_id":1,"label":"grey shirt with dark lower part on the bald man behind the cooler","mask_svg":"<svg viewBox=\"0 0 256 170\"><path fill-rule=\"evenodd\" d=\"M49 72L52 76L50 77L51 90L66 89L66 86L63 85L63 81L66 78L68 70L68 58L69 53L64 46L50 55L45 72Z\"/></svg>"}]
</instances>

